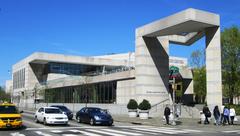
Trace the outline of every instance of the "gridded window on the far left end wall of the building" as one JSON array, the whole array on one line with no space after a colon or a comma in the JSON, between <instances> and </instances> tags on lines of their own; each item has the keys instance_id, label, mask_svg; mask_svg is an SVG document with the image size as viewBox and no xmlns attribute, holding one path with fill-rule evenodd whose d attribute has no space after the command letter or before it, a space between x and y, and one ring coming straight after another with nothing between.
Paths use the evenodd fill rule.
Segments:
<instances>
[{"instance_id":1,"label":"gridded window on the far left end wall of the building","mask_svg":"<svg viewBox=\"0 0 240 136\"><path fill-rule=\"evenodd\" d=\"M25 68L13 73L13 89L25 87Z\"/></svg>"}]
</instances>

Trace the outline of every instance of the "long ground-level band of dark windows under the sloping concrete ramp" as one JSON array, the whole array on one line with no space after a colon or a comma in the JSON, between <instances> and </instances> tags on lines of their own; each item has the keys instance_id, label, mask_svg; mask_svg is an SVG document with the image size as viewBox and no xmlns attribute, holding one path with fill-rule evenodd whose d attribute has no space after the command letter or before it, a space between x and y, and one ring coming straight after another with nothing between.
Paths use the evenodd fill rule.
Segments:
<instances>
[{"instance_id":1,"label":"long ground-level band of dark windows under the sloping concrete ramp","mask_svg":"<svg viewBox=\"0 0 240 136\"><path fill-rule=\"evenodd\" d=\"M116 81L45 90L48 103L114 103Z\"/></svg>"}]
</instances>

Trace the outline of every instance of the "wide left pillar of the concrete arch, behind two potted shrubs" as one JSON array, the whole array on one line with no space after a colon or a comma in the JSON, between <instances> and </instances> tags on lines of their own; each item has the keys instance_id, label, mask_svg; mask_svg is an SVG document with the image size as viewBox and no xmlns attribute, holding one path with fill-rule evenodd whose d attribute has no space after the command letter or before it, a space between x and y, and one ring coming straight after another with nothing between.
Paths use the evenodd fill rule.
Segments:
<instances>
[{"instance_id":1,"label":"wide left pillar of the concrete arch, behind two potted shrubs","mask_svg":"<svg viewBox=\"0 0 240 136\"><path fill-rule=\"evenodd\" d=\"M136 98L139 102L147 99L156 104L169 99L168 47L166 37L136 36Z\"/></svg>"}]
</instances>

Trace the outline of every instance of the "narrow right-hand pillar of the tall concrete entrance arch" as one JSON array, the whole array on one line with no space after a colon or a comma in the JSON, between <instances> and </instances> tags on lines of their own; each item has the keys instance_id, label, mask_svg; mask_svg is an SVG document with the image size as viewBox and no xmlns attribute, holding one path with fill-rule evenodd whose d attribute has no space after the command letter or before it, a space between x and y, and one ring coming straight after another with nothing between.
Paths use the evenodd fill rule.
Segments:
<instances>
[{"instance_id":1,"label":"narrow right-hand pillar of the tall concrete entrance arch","mask_svg":"<svg viewBox=\"0 0 240 136\"><path fill-rule=\"evenodd\" d=\"M222 105L220 27L206 28L207 104Z\"/></svg>"}]
</instances>

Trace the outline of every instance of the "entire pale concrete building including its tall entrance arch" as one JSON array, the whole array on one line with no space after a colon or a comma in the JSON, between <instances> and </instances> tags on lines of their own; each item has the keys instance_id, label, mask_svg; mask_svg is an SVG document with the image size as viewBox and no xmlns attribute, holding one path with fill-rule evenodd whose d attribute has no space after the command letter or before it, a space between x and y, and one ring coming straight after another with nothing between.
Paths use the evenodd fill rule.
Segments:
<instances>
[{"instance_id":1,"label":"entire pale concrete building including its tall entrance arch","mask_svg":"<svg viewBox=\"0 0 240 136\"><path fill-rule=\"evenodd\" d=\"M187 9L137 28L135 53L92 57L34 53L13 66L15 100L24 107L43 99L45 103L125 106L134 98L138 102L147 99L153 106L171 104L169 65L181 67L185 95L193 94L193 83L187 60L169 57L169 45L190 46L205 36L207 103L220 106L219 21L217 14Z\"/></svg>"}]
</instances>

